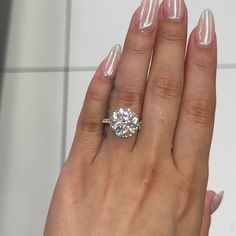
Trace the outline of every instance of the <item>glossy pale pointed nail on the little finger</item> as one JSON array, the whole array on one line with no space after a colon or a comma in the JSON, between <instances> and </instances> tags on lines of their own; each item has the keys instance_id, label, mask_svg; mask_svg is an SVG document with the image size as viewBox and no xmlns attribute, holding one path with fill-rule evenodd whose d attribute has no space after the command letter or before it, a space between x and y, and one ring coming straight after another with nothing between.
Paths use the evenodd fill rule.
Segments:
<instances>
[{"instance_id":1,"label":"glossy pale pointed nail on the little finger","mask_svg":"<svg viewBox=\"0 0 236 236\"><path fill-rule=\"evenodd\" d=\"M119 44L112 47L107 58L105 59L105 64L103 68L103 77L113 78L115 76L118 63L121 57L122 48Z\"/></svg>"}]
</instances>

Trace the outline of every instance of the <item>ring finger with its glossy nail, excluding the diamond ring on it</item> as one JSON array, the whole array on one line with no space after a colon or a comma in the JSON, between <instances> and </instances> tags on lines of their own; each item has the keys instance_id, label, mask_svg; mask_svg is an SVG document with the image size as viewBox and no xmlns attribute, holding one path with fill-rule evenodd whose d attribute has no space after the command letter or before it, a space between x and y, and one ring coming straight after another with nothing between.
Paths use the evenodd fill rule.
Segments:
<instances>
[{"instance_id":1,"label":"ring finger with its glossy nail, excluding the diamond ring on it","mask_svg":"<svg viewBox=\"0 0 236 236\"><path fill-rule=\"evenodd\" d=\"M143 0L132 17L110 99L109 115L118 108L131 108L140 117L156 36L157 13L157 0ZM104 145L132 149L135 140L135 136L118 138L109 129Z\"/></svg>"}]
</instances>

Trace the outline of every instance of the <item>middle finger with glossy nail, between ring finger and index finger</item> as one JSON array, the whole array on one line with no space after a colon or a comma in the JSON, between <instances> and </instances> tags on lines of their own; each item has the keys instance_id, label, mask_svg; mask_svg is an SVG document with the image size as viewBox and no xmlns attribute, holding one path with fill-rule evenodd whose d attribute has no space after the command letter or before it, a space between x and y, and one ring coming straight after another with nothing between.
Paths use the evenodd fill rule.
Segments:
<instances>
[{"instance_id":1,"label":"middle finger with glossy nail, between ring finger and index finger","mask_svg":"<svg viewBox=\"0 0 236 236\"><path fill-rule=\"evenodd\" d=\"M145 94L140 146L172 147L184 82L187 10L183 0L165 0Z\"/></svg>"}]
</instances>

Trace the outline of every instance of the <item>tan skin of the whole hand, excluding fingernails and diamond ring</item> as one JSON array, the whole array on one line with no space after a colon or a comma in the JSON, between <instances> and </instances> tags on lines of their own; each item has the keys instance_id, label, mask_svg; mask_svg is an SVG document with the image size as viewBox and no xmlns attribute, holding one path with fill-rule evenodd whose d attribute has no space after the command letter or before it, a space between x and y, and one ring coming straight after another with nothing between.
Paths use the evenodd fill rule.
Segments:
<instances>
[{"instance_id":1,"label":"tan skin of the whole hand, excluding fingernails and diamond ring","mask_svg":"<svg viewBox=\"0 0 236 236\"><path fill-rule=\"evenodd\" d=\"M216 38L199 48L194 29L185 57L187 10L182 22L160 13L153 32L137 31L136 15L115 80L102 76L104 61L88 88L45 236L208 235ZM142 117L129 139L104 135L101 120L119 107Z\"/></svg>"}]
</instances>

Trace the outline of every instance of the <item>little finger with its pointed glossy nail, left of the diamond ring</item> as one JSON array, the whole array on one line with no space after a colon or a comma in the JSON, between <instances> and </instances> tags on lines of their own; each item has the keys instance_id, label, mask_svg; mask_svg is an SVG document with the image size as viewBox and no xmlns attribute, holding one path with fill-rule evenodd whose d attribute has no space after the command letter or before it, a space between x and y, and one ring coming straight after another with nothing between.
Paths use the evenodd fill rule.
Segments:
<instances>
[{"instance_id":1,"label":"little finger with its pointed glossy nail, left of the diamond ring","mask_svg":"<svg viewBox=\"0 0 236 236\"><path fill-rule=\"evenodd\" d=\"M90 163L99 151L107 113L107 104L121 56L120 45L115 45L107 58L98 67L87 91L70 157ZM74 154L75 155L72 155Z\"/></svg>"}]
</instances>

